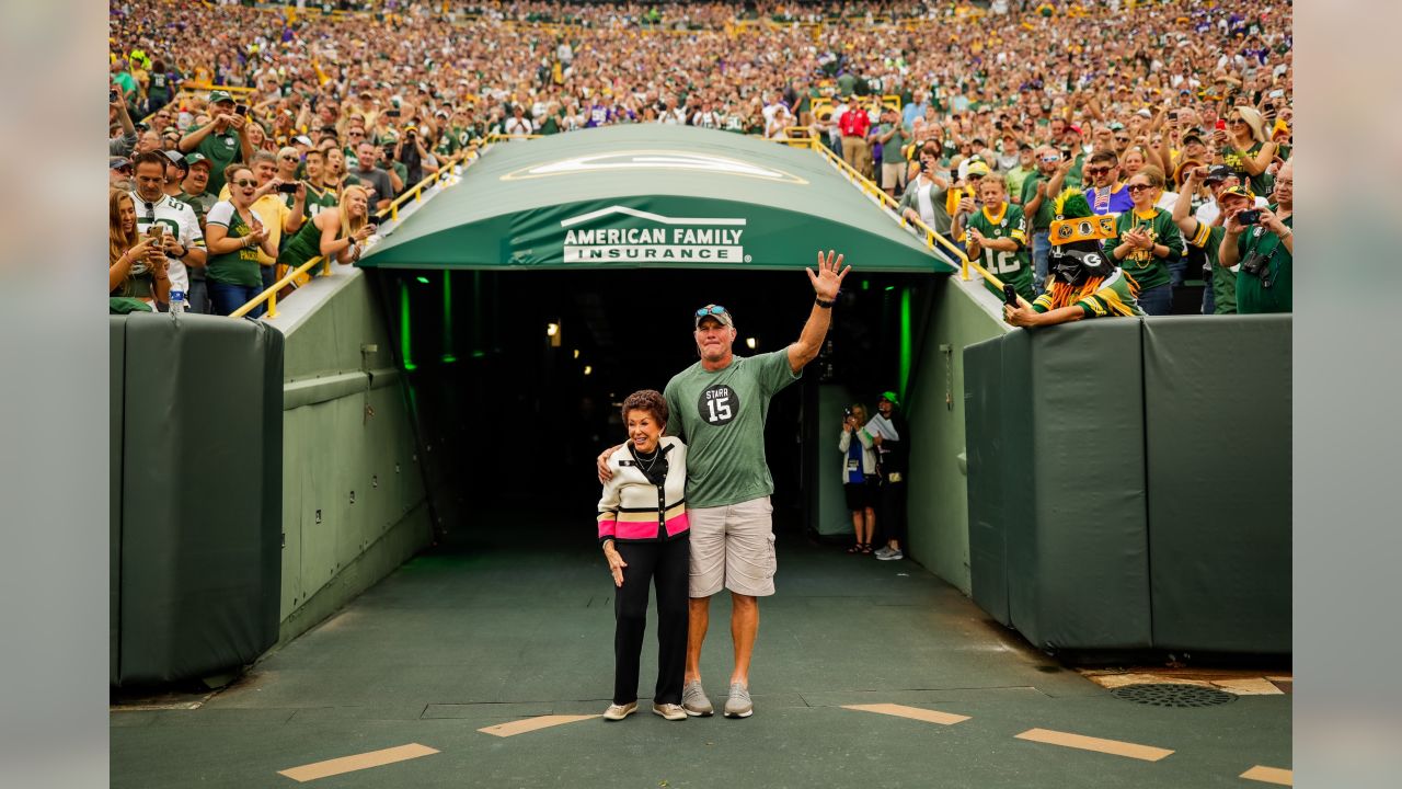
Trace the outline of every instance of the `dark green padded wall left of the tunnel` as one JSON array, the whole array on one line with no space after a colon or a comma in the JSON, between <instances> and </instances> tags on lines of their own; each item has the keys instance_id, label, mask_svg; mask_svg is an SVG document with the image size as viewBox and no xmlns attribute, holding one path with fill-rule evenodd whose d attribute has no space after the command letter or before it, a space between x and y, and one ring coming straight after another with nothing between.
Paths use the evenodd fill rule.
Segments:
<instances>
[{"instance_id":1,"label":"dark green padded wall left of the tunnel","mask_svg":"<svg viewBox=\"0 0 1402 789\"><path fill-rule=\"evenodd\" d=\"M112 320L126 326L116 684L251 663L278 640L282 334Z\"/></svg>"}]
</instances>

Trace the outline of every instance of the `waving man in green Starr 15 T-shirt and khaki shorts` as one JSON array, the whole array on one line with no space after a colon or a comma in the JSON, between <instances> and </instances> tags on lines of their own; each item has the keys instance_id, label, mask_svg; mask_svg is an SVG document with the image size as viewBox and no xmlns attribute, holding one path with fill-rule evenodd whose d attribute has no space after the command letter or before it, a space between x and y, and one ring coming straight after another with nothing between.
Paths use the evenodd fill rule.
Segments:
<instances>
[{"instance_id":1,"label":"waving man in green Starr 15 T-shirt and khaki shorts","mask_svg":"<svg viewBox=\"0 0 1402 789\"><path fill-rule=\"evenodd\" d=\"M758 598L774 594L774 477L764 456L764 420L770 400L817 358L831 324L843 278L843 256L817 253L817 272L808 272L815 299L798 341L756 357L732 352L735 319L719 305L695 312L693 338L701 361L667 382L672 418L667 430L687 442L687 507L691 521L690 622L681 706L691 716L715 713L701 687L701 647L711 621L711 595L730 590L730 637L735 667L725 702L726 717L754 713L750 657L760 628ZM608 449L599 456L607 482Z\"/></svg>"}]
</instances>

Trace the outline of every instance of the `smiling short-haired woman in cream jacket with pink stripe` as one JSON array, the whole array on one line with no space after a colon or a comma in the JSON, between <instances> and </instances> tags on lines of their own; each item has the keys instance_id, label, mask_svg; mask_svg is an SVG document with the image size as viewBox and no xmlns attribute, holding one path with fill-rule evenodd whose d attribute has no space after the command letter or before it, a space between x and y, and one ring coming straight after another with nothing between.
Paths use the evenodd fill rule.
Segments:
<instances>
[{"instance_id":1,"label":"smiling short-haired woman in cream jacket with pink stripe","mask_svg":"<svg viewBox=\"0 0 1402 789\"><path fill-rule=\"evenodd\" d=\"M628 444L608 455L613 477L599 500L599 542L618 595L614 599L614 695L606 720L638 710L638 661L648 622L648 584L658 587L658 687L652 712L686 720L681 675L687 657L690 524L684 489L687 446L662 437L667 400L653 389L622 403Z\"/></svg>"}]
</instances>

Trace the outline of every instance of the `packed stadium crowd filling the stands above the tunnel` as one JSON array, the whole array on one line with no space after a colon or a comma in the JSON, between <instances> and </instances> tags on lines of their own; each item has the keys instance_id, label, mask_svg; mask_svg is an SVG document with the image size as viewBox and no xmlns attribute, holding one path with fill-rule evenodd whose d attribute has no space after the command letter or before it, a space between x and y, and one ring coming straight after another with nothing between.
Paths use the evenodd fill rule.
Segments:
<instances>
[{"instance_id":1,"label":"packed stadium crowd filling the stands above the tunnel","mask_svg":"<svg viewBox=\"0 0 1402 789\"><path fill-rule=\"evenodd\" d=\"M1147 312L1290 310L1288 0L129 0L109 27L109 284L130 309L181 289L227 313L279 265L355 260L367 212L488 135L659 122L816 135L1026 295L1078 187L1120 215ZM1023 226L993 248L970 222ZM1199 279L1202 303L1173 299Z\"/></svg>"}]
</instances>

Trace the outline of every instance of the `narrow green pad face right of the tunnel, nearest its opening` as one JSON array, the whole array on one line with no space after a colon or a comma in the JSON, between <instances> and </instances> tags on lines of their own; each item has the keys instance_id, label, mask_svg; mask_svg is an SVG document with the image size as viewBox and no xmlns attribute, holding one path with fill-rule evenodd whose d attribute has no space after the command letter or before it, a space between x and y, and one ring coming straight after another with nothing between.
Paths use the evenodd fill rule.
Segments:
<instances>
[{"instance_id":1,"label":"narrow green pad face right of the tunnel, nearest its opening","mask_svg":"<svg viewBox=\"0 0 1402 789\"><path fill-rule=\"evenodd\" d=\"M965 418L969 442L969 574L973 601L1011 625L1008 612L1007 515L1002 494L1002 340L963 351Z\"/></svg>"}]
</instances>

